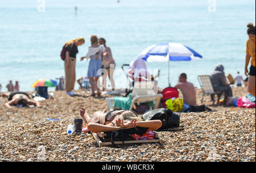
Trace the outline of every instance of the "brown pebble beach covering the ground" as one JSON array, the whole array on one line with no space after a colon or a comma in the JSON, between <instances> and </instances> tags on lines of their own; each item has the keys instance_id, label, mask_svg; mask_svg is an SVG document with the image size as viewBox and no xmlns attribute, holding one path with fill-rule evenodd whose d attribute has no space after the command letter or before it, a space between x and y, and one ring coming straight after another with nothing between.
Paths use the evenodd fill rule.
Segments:
<instances>
[{"instance_id":1,"label":"brown pebble beach covering the ground","mask_svg":"<svg viewBox=\"0 0 256 173\"><path fill-rule=\"evenodd\" d=\"M234 96L247 95L244 87L232 90ZM201 105L202 91L196 91ZM212 106L210 96L204 96L203 104L213 111L179 113L184 130L158 132L163 145L98 147L91 133L69 135L66 129L80 118L81 107L89 113L108 109L109 95L95 98L84 90L75 92L78 96L71 97L55 91L53 98L40 102L43 108L7 109L7 99L0 98L0 161L255 162L255 108Z\"/></svg>"}]
</instances>

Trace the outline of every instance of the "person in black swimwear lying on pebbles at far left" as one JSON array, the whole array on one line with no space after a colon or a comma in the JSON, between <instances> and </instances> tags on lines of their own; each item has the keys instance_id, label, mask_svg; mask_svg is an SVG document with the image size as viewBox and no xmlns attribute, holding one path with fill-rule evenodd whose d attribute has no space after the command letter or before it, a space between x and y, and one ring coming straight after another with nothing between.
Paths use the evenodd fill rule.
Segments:
<instances>
[{"instance_id":1,"label":"person in black swimwear lying on pebbles at far left","mask_svg":"<svg viewBox=\"0 0 256 173\"><path fill-rule=\"evenodd\" d=\"M10 109L12 108L11 106L25 107L29 105L42 108L39 102L30 99L30 96L27 94L27 92L6 92L1 96L8 98L9 102L5 103L5 106Z\"/></svg>"}]
</instances>

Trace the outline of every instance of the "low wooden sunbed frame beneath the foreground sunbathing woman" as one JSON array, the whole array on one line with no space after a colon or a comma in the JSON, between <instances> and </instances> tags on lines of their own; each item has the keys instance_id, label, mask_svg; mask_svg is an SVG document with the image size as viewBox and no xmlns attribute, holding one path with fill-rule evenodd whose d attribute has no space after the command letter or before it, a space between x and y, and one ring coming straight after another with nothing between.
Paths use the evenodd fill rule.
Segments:
<instances>
[{"instance_id":1,"label":"low wooden sunbed frame beneath the foreground sunbathing woman","mask_svg":"<svg viewBox=\"0 0 256 173\"><path fill-rule=\"evenodd\" d=\"M159 143L160 145L163 144L163 140L158 136L158 133L155 133L155 139L154 140L129 140L127 139L125 141L125 144L143 144L143 143ZM105 138L106 134L104 132L100 132L100 133L92 133L96 143L98 144L99 147L102 146L108 146L108 145L112 145L112 142L110 142L110 138ZM123 141L114 141L115 145L118 144L123 144Z\"/></svg>"}]
</instances>

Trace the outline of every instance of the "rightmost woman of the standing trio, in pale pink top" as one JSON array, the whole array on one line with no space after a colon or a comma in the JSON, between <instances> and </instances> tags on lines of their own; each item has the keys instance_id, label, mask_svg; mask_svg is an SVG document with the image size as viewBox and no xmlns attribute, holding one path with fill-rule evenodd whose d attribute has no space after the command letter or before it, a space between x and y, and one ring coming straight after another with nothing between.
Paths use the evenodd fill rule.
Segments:
<instances>
[{"instance_id":1,"label":"rightmost woman of the standing trio, in pale pink top","mask_svg":"<svg viewBox=\"0 0 256 173\"><path fill-rule=\"evenodd\" d=\"M100 43L100 45L104 45L104 47L106 49L106 51L104 52L103 57L102 57L102 64L104 65L104 68L108 71L108 76L109 76L109 80L111 82L112 91L114 91L115 83L114 83L114 79L113 79L113 74L114 74L114 68L115 68L115 60L113 59L110 47L106 46L106 40L104 38L100 38L99 43ZM102 90L105 91L105 88L106 88L106 75L103 75L103 89Z\"/></svg>"}]
</instances>

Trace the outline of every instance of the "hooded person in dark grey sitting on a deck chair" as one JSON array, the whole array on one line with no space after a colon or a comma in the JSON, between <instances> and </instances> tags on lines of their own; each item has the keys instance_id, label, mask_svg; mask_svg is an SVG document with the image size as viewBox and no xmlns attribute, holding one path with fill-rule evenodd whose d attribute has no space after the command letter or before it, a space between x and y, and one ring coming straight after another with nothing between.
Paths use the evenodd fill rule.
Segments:
<instances>
[{"instance_id":1,"label":"hooded person in dark grey sitting on a deck chair","mask_svg":"<svg viewBox=\"0 0 256 173\"><path fill-rule=\"evenodd\" d=\"M233 85L234 83L228 84L226 81L224 66L222 64L218 64L214 71L210 74L210 78L212 79L212 84L214 91L222 91L225 93L224 96L224 105L228 101L228 97L232 97L232 88L229 85Z\"/></svg>"}]
</instances>

